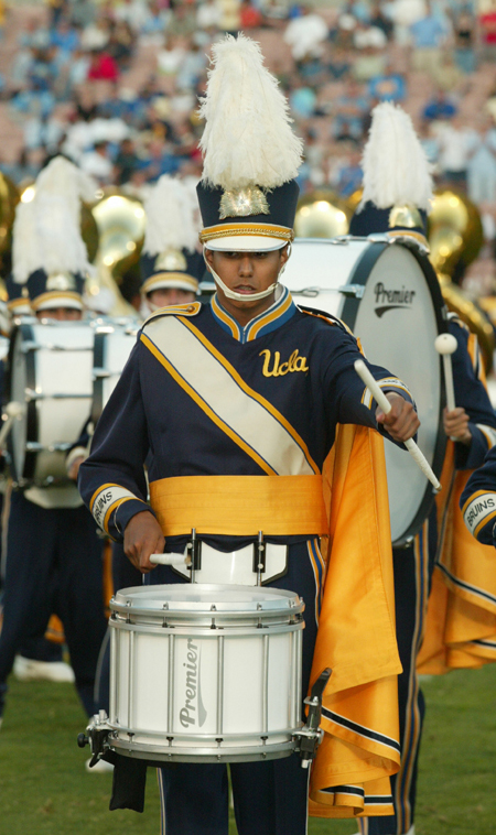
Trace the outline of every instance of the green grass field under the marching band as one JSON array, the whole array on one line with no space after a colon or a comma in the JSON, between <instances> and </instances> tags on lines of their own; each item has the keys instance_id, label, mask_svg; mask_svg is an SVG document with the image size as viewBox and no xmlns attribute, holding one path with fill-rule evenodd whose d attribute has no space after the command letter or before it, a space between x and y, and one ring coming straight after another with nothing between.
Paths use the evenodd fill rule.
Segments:
<instances>
[{"instance_id":1,"label":"green grass field under the marching band","mask_svg":"<svg viewBox=\"0 0 496 835\"><path fill-rule=\"evenodd\" d=\"M108 812L111 776L84 769L85 717L71 685L11 679L0 730L0 835L159 835L157 779L142 815ZM423 685L428 718L417 835L493 835L496 821L496 666ZM353 821L312 820L310 835L356 832ZM234 822L229 831L235 835Z\"/></svg>"}]
</instances>

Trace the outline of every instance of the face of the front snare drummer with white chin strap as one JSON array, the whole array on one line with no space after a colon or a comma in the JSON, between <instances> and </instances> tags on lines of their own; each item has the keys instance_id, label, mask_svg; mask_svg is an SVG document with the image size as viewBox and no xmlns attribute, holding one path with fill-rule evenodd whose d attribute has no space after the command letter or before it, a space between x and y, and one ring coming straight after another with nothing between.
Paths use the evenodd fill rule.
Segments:
<instances>
[{"instance_id":1,"label":"face of the front snare drummer with white chin strap","mask_svg":"<svg viewBox=\"0 0 496 835\"><path fill-rule=\"evenodd\" d=\"M246 295L246 302L227 300L222 288L217 288L220 303L227 310L236 307L254 312L256 308L265 310L273 304L273 293L258 302L250 302L250 295L263 292L278 280L288 260L288 247L271 252L218 252L206 249L205 258L229 290Z\"/></svg>"}]
</instances>

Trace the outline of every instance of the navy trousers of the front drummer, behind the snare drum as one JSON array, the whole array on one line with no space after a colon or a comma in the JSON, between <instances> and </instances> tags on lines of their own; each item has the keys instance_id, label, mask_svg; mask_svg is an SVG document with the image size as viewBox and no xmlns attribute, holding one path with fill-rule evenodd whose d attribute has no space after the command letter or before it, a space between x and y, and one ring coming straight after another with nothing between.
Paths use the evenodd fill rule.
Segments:
<instances>
[{"instance_id":1,"label":"navy trousers of the front drummer, behind the snare drum","mask_svg":"<svg viewBox=\"0 0 496 835\"><path fill-rule=\"evenodd\" d=\"M159 566L149 582L182 582ZM288 573L270 586L296 592L305 601L303 688L306 695L316 638L322 589L322 560L316 540L290 545ZM303 707L303 705L302 705ZM305 835L309 771L295 755L269 762L229 766L239 835ZM159 771L162 833L227 835L228 790L225 764L171 763Z\"/></svg>"}]
</instances>

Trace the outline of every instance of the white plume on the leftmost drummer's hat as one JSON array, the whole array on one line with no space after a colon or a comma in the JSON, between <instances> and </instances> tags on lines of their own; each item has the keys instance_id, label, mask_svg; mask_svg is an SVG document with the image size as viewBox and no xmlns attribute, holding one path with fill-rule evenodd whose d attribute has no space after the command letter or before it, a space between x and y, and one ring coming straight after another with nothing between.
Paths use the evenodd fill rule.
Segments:
<instances>
[{"instance_id":1,"label":"white plume on the leftmost drummer's hat","mask_svg":"<svg viewBox=\"0 0 496 835\"><path fill-rule=\"evenodd\" d=\"M63 156L56 156L39 175L31 203L15 210L12 273L23 284L35 270L88 272L80 236L80 200L94 199L96 184Z\"/></svg>"}]
</instances>

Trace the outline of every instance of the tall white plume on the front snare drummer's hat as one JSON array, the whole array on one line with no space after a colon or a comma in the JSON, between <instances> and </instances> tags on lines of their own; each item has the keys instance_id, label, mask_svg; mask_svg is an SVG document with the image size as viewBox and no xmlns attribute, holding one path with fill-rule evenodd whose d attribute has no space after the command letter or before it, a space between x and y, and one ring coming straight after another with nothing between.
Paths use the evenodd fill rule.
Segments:
<instances>
[{"instance_id":1,"label":"tall white plume on the front snare drummer's hat","mask_svg":"<svg viewBox=\"0 0 496 835\"><path fill-rule=\"evenodd\" d=\"M223 188L274 188L298 174L303 143L285 97L263 66L260 46L239 34L215 44L200 115L203 181Z\"/></svg>"}]
</instances>

